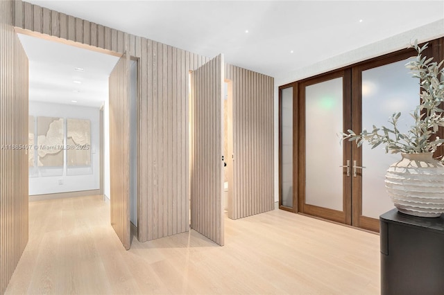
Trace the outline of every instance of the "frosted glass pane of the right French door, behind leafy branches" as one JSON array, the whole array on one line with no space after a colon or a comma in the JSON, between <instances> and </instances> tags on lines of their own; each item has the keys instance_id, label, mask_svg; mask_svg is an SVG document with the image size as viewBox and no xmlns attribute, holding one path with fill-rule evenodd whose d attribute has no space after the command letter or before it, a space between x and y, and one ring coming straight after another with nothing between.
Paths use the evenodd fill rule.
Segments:
<instances>
[{"instance_id":1,"label":"frosted glass pane of the right French door, behind leafy branches","mask_svg":"<svg viewBox=\"0 0 444 295\"><path fill-rule=\"evenodd\" d=\"M407 132L413 124L409 112L418 105L418 79L411 78L405 68L407 60L377 66L362 71L362 129L370 131L373 125L388 125L388 118L401 111L398 128ZM362 148L362 215L379 219L379 215L390 210L393 202L384 186L388 166L400 161L400 154L386 154L384 146L371 149L364 143Z\"/></svg>"}]
</instances>

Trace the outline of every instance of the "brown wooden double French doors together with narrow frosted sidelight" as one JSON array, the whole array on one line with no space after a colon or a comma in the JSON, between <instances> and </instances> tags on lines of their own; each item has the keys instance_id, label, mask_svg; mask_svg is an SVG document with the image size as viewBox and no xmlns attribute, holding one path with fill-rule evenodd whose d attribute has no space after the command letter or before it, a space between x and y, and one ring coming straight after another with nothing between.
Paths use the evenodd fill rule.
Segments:
<instances>
[{"instance_id":1,"label":"brown wooden double French doors together with narrow frosted sidelight","mask_svg":"<svg viewBox=\"0 0 444 295\"><path fill-rule=\"evenodd\" d=\"M379 231L379 215L393 208L384 187L400 154L380 145L357 147L340 132L411 125L418 80L405 68L412 51L381 57L280 87L280 208ZM291 109L291 111L289 111Z\"/></svg>"}]
</instances>

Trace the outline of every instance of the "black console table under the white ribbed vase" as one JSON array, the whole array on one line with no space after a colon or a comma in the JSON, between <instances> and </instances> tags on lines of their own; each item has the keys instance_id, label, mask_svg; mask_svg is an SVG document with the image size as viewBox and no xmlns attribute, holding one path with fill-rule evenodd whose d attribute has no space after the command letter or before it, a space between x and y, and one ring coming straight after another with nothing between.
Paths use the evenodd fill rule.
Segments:
<instances>
[{"instance_id":1,"label":"black console table under the white ribbed vase","mask_svg":"<svg viewBox=\"0 0 444 295\"><path fill-rule=\"evenodd\" d=\"M379 217L381 294L444 294L444 216Z\"/></svg>"}]
</instances>

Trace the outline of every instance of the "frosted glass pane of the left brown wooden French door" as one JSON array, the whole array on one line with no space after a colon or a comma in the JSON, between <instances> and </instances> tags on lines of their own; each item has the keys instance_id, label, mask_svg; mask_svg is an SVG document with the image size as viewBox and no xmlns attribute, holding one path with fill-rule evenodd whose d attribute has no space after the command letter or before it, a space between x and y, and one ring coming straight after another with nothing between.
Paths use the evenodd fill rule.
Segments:
<instances>
[{"instance_id":1,"label":"frosted glass pane of the left brown wooden French door","mask_svg":"<svg viewBox=\"0 0 444 295\"><path fill-rule=\"evenodd\" d=\"M305 87L305 204L343 211L343 78Z\"/></svg>"}]
</instances>

